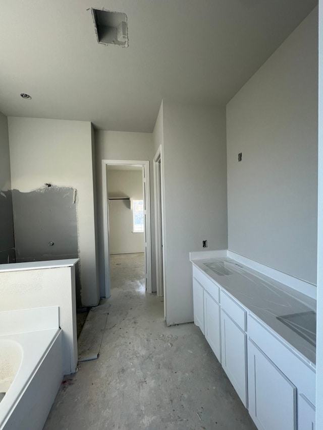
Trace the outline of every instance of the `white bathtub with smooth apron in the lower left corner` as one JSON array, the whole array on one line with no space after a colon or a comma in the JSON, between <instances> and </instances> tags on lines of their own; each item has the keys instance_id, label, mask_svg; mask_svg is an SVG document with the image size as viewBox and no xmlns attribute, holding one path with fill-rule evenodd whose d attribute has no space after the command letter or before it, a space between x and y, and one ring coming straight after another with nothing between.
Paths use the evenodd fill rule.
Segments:
<instances>
[{"instance_id":1,"label":"white bathtub with smooth apron in the lower left corner","mask_svg":"<svg viewBox=\"0 0 323 430\"><path fill-rule=\"evenodd\" d=\"M0 430L41 430L62 379L59 327L1 335Z\"/></svg>"}]
</instances>

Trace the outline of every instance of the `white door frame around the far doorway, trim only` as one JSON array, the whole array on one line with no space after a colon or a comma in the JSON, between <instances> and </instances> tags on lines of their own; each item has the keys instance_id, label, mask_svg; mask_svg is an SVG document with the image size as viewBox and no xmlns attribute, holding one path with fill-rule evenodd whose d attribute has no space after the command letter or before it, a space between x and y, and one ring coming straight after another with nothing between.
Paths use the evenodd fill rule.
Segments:
<instances>
[{"instance_id":1,"label":"white door frame around the far doorway, trim only","mask_svg":"<svg viewBox=\"0 0 323 430\"><path fill-rule=\"evenodd\" d=\"M107 195L107 166L140 166L143 168L142 185L145 190L143 195L145 217L145 242L146 245L146 289L151 293L151 233L150 233L150 180L149 161L146 160L101 160L102 167L102 209L103 209L103 247L104 247L104 280L105 297L111 295L110 285L110 254L109 254L109 206Z\"/></svg>"}]
</instances>

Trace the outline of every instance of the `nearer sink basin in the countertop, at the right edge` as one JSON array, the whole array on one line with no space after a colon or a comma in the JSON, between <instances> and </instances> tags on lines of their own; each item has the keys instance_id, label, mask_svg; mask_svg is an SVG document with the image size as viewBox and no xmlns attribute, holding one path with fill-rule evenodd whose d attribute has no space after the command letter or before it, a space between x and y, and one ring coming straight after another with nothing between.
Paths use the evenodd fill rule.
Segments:
<instances>
[{"instance_id":1,"label":"nearer sink basin in the countertop, at the right edge","mask_svg":"<svg viewBox=\"0 0 323 430\"><path fill-rule=\"evenodd\" d=\"M276 318L311 345L316 346L316 313L314 311L283 315Z\"/></svg>"}]
</instances>

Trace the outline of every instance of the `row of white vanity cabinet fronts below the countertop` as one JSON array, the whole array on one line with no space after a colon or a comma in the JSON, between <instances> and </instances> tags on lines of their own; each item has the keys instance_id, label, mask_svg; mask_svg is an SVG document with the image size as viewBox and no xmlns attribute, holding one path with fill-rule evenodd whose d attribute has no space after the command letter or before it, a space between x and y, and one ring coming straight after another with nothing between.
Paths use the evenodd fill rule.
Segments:
<instances>
[{"instance_id":1,"label":"row of white vanity cabinet fronts below the countertop","mask_svg":"<svg viewBox=\"0 0 323 430\"><path fill-rule=\"evenodd\" d=\"M207 270L193 265L194 322L257 428L315 430L315 366Z\"/></svg>"}]
</instances>

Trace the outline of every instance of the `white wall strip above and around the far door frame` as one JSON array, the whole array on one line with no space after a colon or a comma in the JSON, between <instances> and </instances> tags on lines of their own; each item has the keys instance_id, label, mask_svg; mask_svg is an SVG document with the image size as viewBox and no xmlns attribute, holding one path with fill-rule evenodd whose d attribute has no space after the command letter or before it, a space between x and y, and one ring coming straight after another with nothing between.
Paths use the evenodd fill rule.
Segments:
<instances>
[{"instance_id":1,"label":"white wall strip above and around the far door frame","mask_svg":"<svg viewBox=\"0 0 323 430\"><path fill-rule=\"evenodd\" d=\"M152 133L131 132L95 132L98 244L99 244L99 279L101 296L105 295L104 285L104 248L102 221L102 167L101 160L148 160L150 173L151 202L151 271L152 291L156 290L154 208L153 208L153 166L154 147Z\"/></svg>"}]
</instances>

